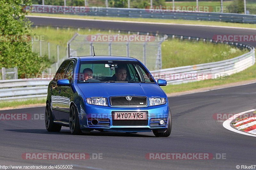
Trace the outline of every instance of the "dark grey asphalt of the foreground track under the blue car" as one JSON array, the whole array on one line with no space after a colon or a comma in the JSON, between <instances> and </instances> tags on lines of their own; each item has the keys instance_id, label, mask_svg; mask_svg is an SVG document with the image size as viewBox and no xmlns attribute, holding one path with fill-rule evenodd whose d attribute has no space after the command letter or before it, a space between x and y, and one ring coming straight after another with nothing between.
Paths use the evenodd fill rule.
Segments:
<instances>
[{"instance_id":1,"label":"dark grey asphalt of the foreground track under the blue car","mask_svg":"<svg viewBox=\"0 0 256 170\"><path fill-rule=\"evenodd\" d=\"M215 113L240 113L256 108L256 84L170 97L172 133L154 137L98 132L70 135L68 128L47 132L44 120L1 121L2 165L73 165L74 169L236 169L255 165L255 138L225 129ZM0 111L44 114L44 107ZM33 117L33 116L32 116ZM22 153L102 153L102 159L26 160ZM148 160L147 153L216 153L226 159Z\"/></svg>"}]
</instances>

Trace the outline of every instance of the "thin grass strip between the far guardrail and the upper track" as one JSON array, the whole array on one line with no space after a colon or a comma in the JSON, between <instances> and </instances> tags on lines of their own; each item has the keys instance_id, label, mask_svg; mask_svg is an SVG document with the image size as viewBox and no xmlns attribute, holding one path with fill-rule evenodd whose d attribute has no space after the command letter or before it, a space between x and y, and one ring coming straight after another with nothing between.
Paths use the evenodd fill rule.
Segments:
<instances>
[{"instance_id":1,"label":"thin grass strip between the far guardrail and the upper track","mask_svg":"<svg viewBox=\"0 0 256 170\"><path fill-rule=\"evenodd\" d=\"M256 28L256 24L230 23L219 21L194 21L184 19L157 19L157 18L125 18L125 17L101 17L101 16L83 16L69 14L46 14L46 13L30 13L32 16L49 16L49 17L67 17L67 18L85 18L85 19L106 19L121 21L139 21L139 22L157 22L157 23L173 23L173 24L197 24L197 25L213 25L213 26L234 26L244 28ZM65 22L65 21L63 21ZM88 26L90 27L90 26Z\"/></svg>"}]
</instances>

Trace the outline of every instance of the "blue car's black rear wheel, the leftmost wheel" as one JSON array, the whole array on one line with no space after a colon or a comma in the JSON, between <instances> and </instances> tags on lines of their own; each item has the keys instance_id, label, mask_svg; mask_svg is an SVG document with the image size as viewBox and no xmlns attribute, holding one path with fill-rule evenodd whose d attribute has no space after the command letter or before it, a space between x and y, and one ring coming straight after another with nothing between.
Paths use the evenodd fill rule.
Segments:
<instances>
[{"instance_id":1,"label":"blue car's black rear wheel, the leftmost wheel","mask_svg":"<svg viewBox=\"0 0 256 170\"><path fill-rule=\"evenodd\" d=\"M55 124L53 120L54 119L52 115L52 109L50 107L50 104L47 102L45 107L45 114L44 114L45 128L49 132L59 132L61 130L61 126Z\"/></svg>"}]
</instances>

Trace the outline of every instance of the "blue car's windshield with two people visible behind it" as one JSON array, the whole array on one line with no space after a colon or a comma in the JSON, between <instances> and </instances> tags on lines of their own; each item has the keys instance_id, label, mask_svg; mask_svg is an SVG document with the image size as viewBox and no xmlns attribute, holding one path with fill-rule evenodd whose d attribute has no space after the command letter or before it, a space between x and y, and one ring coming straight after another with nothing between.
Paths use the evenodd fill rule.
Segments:
<instances>
[{"instance_id":1,"label":"blue car's windshield with two people visible behind it","mask_svg":"<svg viewBox=\"0 0 256 170\"><path fill-rule=\"evenodd\" d=\"M148 71L133 61L84 61L78 83L155 83Z\"/></svg>"}]
</instances>

